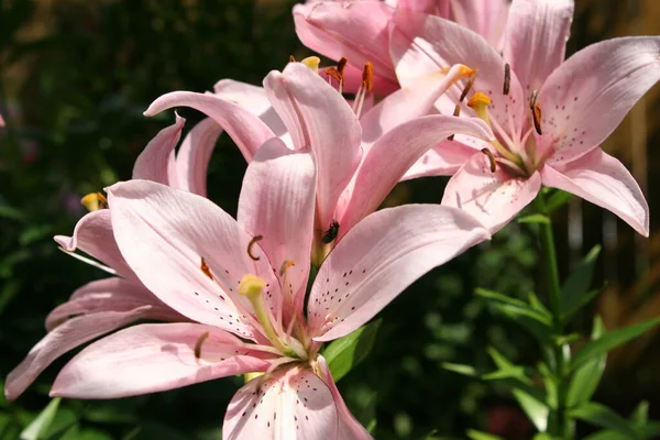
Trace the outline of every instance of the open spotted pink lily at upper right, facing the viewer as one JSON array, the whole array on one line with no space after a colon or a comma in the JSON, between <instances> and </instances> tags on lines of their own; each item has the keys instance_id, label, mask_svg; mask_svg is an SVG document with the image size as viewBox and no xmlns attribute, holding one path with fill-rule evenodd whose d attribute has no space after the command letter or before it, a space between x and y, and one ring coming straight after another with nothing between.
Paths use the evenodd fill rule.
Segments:
<instances>
[{"instance_id":1,"label":"open spotted pink lily at upper right, facing the viewer","mask_svg":"<svg viewBox=\"0 0 660 440\"><path fill-rule=\"evenodd\" d=\"M459 103L461 114L479 116L496 136L493 142L457 136L451 156L430 152L437 166L418 163L416 176L453 174L442 204L477 216L491 231L544 185L610 210L646 237L644 194L600 144L660 78L660 37L608 40L564 62L572 16L570 0L514 0L502 56L455 23L397 11L391 51L402 86L459 59L475 67L466 105L454 88L438 108L452 111Z\"/></svg>"}]
</instances>

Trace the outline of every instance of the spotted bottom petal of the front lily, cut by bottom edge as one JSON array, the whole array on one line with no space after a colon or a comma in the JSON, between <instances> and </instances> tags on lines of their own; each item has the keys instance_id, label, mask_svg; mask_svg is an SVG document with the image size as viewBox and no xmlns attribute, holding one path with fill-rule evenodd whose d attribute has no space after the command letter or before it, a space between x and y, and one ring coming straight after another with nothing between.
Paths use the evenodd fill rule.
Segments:
<instances>
[{"instance_id":1,"label":"spotted bottom petal of the front lily, cut by bottom edge","mask_svg":"<svg viewBox=\"0 0 660 440\"><path fill-rule=\"evenodd\" d=\"M337 408L323 381L300 366L245 384L231 399L223 440L337 439Z\"/></svg>"}]
</instances>

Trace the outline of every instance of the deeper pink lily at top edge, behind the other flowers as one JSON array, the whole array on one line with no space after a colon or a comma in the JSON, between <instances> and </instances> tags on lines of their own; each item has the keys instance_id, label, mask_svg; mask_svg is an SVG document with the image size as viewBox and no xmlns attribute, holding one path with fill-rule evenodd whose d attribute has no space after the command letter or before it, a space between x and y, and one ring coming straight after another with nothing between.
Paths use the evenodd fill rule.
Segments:
<instances>
[{"instance_id":1,"label":"deeper pink lily at top edge, behind the other flowers","mask_svg":"<svg viewBox=\"0 0 660 440\"><path fill-rule=\"evenodd\" d=\"M480 33L496 45L502 35L508 10L507 0L380 0L307 1L294 7L296 33L307 47L339 62L346 57L344 91L360 86L361 66L374 66L376 95L398 89L389 55L389 25L396 9L437 14Z\"/></svg>"}]
</instances>

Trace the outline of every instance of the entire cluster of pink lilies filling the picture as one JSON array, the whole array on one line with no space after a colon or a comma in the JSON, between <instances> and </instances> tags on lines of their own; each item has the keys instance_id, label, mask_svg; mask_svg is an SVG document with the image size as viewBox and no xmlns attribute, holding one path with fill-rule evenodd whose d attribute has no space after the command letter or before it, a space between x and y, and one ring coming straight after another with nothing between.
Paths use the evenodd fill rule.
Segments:
<instances>
[{"instance_id":1,"label":"entire cluster of pink lilies filling the picture","mask_svg":"<svg viewBox=\"0 0 660 440\"><path fill-rule=\"evenodd\" d=\"M564 61L572 16L570 0L308 1L294 8L298 36L337 66L292 61L263 87L224 79L156 99L146 116L190 107L208 118L177 148L176 116L133 178L86 197L91 212L55 238L113 276L51 312L48 333L7 378L8 399L102 337L62 370L53 396L264 373L233 397L223 438L371 438L323 342L487 240L542 186L648 235L639 186L600 144L660 78L660 37L609 40ZM223 131L249 163L235 219L206 197ZM378 210L398 182L436 175L452 176L441 205Z\"/></svg>"}]
</instances>

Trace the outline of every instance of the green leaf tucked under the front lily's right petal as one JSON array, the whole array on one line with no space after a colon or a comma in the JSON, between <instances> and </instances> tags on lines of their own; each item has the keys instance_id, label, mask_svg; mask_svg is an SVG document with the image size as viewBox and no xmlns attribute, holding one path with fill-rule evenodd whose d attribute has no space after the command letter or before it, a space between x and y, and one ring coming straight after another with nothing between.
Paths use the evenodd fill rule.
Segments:
<instances>
[{"instance_id":1,"label":"green leaf tucked under the front lily's right petal","mask_svg":"<svg viewBox=\"0 0 660 440\"><path fill-rule=\"evenodd\" d=\"M333 341L323 351L334 382L339 382L362 362L374 345L381 320L362 326L351 334Z\"/></svg>"}]
</instances>

